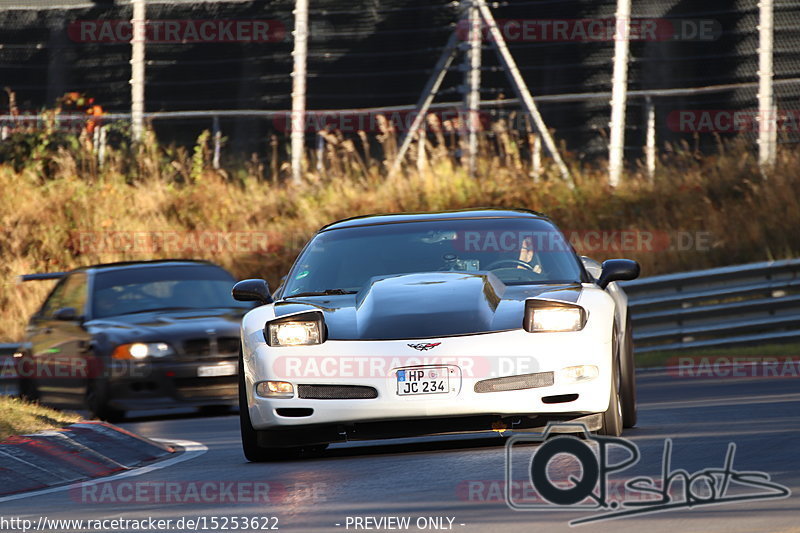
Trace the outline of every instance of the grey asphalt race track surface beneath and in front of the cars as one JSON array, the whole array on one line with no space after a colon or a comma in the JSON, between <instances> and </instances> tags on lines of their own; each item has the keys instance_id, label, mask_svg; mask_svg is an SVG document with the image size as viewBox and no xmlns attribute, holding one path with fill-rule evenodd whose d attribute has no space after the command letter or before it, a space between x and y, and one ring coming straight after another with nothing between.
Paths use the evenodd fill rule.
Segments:
<instances>
[{"instance_id":1,"label":"grey asphalt race track surface beneath and in front of the cars","mask_svg":"<svg viewBox=\"0 0 800 533\"><path fill-rule=\"evenodd\" d=\"M578 531L613 528L614 531L647 533L800 532L800 387L797 377L700 379L648 372L639 377L639 400L638 427L628 430L625 436L638 445L640 461L613 475L612 479L660 477L666 438L671 438L673 444L671 470L685 469L689 474L722 469L728 443L734 442L732 470L768 473L771 482L788 487L792 495L587 523L576 526ZM151 416L133 418L122 426L148 437L196 441L207 446L208 451L143 475L112 481L112 490L105 493L102 486L96 492L73 488L5 501L0 503L0 515L28 518L34 524L43 516L83 520L153 517L172 519L173 524L181 517L205 517L205 525L186 527L184 522L182 528L175 525L167 528L170 531L234 530L233 522L228 523L227 528L222 527L225 525L223 518L239 516L265 517L255 524L256 528L245 528L261 531L266 530L265 526L275 525L266 517L277 517L280 530L300 532L391 530L379 528L373 519L408 517L410 527L405 529L408 531L435 530L434 526L443 526L445 530L465 532L527 533L571 530L570 520L600 514L587 510L564 511L563 508L509 509L502 490L506 439L492 433L390 443L347 443L333 446L321 456L300 461L248 464L240 451L236 416ZM536 449L534 444L513 448L514 479L522 482L526 478L525 465ZM624 456L620 449L616 452L621 454L618 457ZM567 472L581 475L575 459L564 455L552 459L549 472L555 479ZM153 496L152 491L149 495L135 494L137 487L152 489L168 482L178 487L177 492L172 493L173 499L181 501L170 501L163 493ZM231 501L231 493L226 493L217 498L201 496L202 501L197 503L196 490L206 482L217 484L215 486L220 482L229 486L236 482L232 489L234 501ZM265 483L268 493L264 492ZM709 497L708 485L705 489L702 485L702 481L693 485L697 498ZM728 496L769 492L752 487L736 489L733 485L735 483L730 483ZM680 482L674 489L675 499L681 499ZM253 497L254 493L266 496ZM267 497L271 501L265 503ZM526 505L546 503L522 489L512 497ZM558 509L553 505L550 508ZM357 520L359 518L361 521ZM359 524L361 527L356 529ZM125 530L113 525L107 530ZM241 530L242 524L239 525ZM381 525L397 527L394 522ZM370 529L366 529L367 526ZM58 529L87 530L63 524Z\"/></svg>"}]
</instances>

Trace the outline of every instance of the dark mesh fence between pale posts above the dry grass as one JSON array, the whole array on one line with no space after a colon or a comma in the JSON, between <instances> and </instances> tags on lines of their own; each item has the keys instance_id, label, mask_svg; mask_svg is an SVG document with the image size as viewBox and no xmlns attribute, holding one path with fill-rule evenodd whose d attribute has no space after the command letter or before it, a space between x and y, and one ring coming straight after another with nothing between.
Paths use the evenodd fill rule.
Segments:
<instances>
[{"instance_id":1,"label":"dark mesh fence between pale posts above the dry grass","mask_svg":"<svg viewBox=\"0 0 800 533\"><path fill-rule=\"evenodd\" d=\"M150 118L159 138L190 143L216 126L228 139L227 155L269 156L276 140L283 150L294 2L146 4L145 109L157 113ZM548 128L576 156L604 157L616 2L519 0L490 7ZM450 35L456 32L466 46L459 2L310 0L309 9L307 109L378 108L310 113L309 147L326 127L374 132L381 112L393 113L402 129ZM781 143L796 143L800 3L775 0L773 12L777 136ZM0 99L4 131L70 92L124 118L131 106L131 13L127 1L0 1L0 84L15 96L12 102L6 92ZM628 161L645 155L648 133L659 150L681 143L713 150L719 138L735 135L755 142L765 112L757 99L757 0L634 0L628 22ZM528 127L489 43L481 55L486 120L506 118L514 127ZM663 92L708 86L715 88ZM459 56L437 94L437 113L457 115L464 90ZM171 114L177 111L192 113Z\"/></svg>"}]
</instances>

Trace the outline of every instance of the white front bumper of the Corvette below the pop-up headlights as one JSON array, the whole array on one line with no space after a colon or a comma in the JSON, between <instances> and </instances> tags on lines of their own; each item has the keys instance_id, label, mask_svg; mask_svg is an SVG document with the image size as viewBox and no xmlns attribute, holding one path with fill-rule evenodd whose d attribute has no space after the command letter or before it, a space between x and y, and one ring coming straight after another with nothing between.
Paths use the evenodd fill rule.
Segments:
<instances>
[{"instance_id":1,"label":"white front bumper of the Corvette below the pop-up headlights","mask_svg":"<svg viewBox=\"0 0 800 533\"><path fill-rule=\"evenodd\" d=\"M317 346L272 348L257 333L245 337L245 386L254 429L301 429L357 423L481 417L563 417L601 413L608 408L611 384L611 339L595 329L535 333L523 330L425 339L440 343L425 351L419 340L327 341ZM564 369L592 365L598 376L570 383ZM452 376L445 394L400 396L397 370L420 366L447 368ZM552 385L505 392L476 392L486 379L552 372ZM265 398L255 392L264 380L294 385L292 398ZM298 385L366 386L371 399L299 398ZM558 401L562 400L562 401ZM566 400L566 401L565 401ZM477 417L477 418L476 418ZM425 431L424 433L430 433Z\"/></svg>"}]
</instances>

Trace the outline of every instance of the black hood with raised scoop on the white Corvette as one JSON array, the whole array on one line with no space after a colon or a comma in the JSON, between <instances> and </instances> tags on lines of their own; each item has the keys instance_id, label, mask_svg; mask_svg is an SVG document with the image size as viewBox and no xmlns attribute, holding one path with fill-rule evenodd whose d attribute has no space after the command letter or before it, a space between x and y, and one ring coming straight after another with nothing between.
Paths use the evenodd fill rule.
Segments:
<instances>
[{"instance_id":1,"label":"black hood with raised scoop on the white Corvette","mask_svg":"<svg viewBox=\"0 0 800 533\"><path fill-rule=\"evenodd\" d=\"M355 295L282 300L275 314L319 310L332 340L449 337L522 328L527 298L577 301L581 286L505 285L488 272L373 278Z\"/></svg>"}]
</instances>

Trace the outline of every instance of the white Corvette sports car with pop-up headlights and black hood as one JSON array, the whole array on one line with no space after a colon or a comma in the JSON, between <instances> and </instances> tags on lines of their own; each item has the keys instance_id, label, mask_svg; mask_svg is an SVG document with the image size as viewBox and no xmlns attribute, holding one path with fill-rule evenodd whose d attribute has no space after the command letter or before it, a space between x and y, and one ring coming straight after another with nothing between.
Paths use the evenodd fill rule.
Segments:
<instances>
[{"instance_id":1,"label":"white Corvette sports car with pop-up headlights and black hood","mask_svg":"<svg viewBox=\"0 0 800 533\"><path fill-rule=\"evenodd\" d=\"M233 288L247 459L330 442L636 423L626 259L578 257L545 216L482 209L322 228L281 286Z\"/></svg>"}]
</instances>

